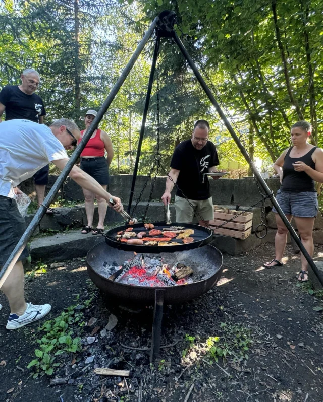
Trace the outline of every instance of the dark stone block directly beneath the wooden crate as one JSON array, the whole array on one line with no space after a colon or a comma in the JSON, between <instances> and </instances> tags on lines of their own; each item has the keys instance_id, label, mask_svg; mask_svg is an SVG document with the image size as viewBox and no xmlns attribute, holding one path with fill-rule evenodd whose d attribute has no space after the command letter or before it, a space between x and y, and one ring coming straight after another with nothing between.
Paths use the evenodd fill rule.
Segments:
<instances>
[{"instance_id":1,"label":"dark stone block directly beneath the wooden crate","mask_svg":"<svg viewBox=\"0 0 323 402\"><path fill-rule=\"evenodd\" d=\"M261 244L261 239L258 239L254 234L251 234L244 240L228 236L214 235L211 244L223 253L236 255L258 247Z\"/></svg>"}]
</instances>

